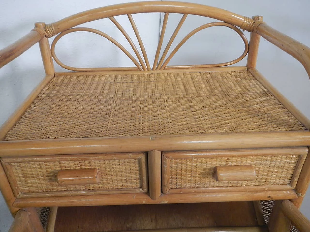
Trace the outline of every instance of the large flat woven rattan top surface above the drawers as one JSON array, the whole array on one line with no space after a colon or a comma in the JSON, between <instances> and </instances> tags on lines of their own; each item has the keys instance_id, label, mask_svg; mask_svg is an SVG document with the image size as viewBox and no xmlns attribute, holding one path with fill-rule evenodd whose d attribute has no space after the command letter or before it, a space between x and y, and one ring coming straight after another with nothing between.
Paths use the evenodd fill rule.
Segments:
<instances>
[{"instance_id":1,"label":"large flat woven rattan top surface above the drawers","mask_svg":"<svg viewBox=\"0 0 310 232\"><path fill-rule=\"evenodd\" d=\"M248 71L56 76L5 140L305 130Z\"/></svg>"}]
</instances>

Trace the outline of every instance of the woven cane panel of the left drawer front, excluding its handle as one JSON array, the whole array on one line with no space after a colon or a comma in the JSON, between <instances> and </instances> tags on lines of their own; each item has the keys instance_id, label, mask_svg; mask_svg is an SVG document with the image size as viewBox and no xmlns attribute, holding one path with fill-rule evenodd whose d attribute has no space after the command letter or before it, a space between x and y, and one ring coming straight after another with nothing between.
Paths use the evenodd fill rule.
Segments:
<instances>
[{"instance_id":1,"label":"woven cane panel of the left drawer front, excluding its handle","mask_svg":"<svg viewBox=\"0 0 310 232\"><path fill-rule=\"evenodd\" d=\"M139 159L11 163L22 193L130 189L141 187ZM99 183L60 186L58 170L97 168Z\"/></svg>"}]
</instances>

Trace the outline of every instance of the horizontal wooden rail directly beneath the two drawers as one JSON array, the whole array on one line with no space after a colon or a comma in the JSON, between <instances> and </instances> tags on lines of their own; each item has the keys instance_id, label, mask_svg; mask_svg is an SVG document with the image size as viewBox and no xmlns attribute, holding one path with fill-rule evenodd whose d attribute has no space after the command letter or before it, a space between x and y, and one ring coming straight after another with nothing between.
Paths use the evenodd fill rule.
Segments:
<instances>
[{"instance_id":1,"label":"horizontal wooden rail directly beneath the two drawers","mask_svg":"<svg viewBox=\"0 0 310 232\"><path fill-rule=\"evenodd\" d=\"M50 206L95 206L95 205L125 205L125 204L173 204L195 202L248 201L248 200L279 200L295 199L294 190L285 191L248 191L212 192L212 193L180 193L162 194L152 200L148 193L111 194L111 195L82 195L16 199L15 207L50 207Z\"/></svg>"}]
</instances>

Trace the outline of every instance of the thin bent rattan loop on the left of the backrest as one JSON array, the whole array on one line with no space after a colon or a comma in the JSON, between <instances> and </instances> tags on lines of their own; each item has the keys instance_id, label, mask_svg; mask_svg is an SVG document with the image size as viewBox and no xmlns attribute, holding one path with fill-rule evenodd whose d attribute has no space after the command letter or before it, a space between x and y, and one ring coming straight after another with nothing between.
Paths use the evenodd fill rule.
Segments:
<instances>
[{"instance_id":1,"label":"thin bent rattan loop on the left of the backrest","mask_svg":"<svg viewBox=\"0 0 310 232\"><path fill-rule=\"evenodd\" d=\"M85 71L85 70L92 70L92 71L97 71L97 70L104 70L103 68L99 68L99 69L95 69L95 68L75 68L75 67L70 67L67 66L65 64L63 64L62 62L60 62L60 60L57 58L56 54L55 54L55 45L57 43L57 41L63 37L64 35L71 33L71 32L79 32L79 31L85 31L85 32L92 32L95 34L98 34L106 39L108 39L109 41L111 41L113 44L115 44L119 49L121 49L130 59L132 62L134 62L134 64L138 67L139 70L143 71L143 68L141 67L141 65L139 64L139 62L128 52L128 50L126 50L120 43L118 43L115 39L113 39L112 37L110 37L109 35L107 35L104 32L101 32L99 30L93 29L93 28L84 28L84 27L78 27L78 28L71 28L68 29L64 32L61 32L58 36L55 37L54 41L52 42L51 45L51 54L54 58L54 60L63 68L65 69L69 69L69 70L73 70L73 71Z\"/></svg>"}]
</instances>

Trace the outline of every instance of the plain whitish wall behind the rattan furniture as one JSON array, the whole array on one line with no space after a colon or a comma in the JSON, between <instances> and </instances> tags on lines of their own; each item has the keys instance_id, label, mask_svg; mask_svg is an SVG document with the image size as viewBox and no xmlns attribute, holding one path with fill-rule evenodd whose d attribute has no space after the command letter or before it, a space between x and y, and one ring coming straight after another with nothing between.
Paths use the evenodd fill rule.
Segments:
<instances>
[{"instance_id":1,"label":"plain whitish wall behind the rattan furniture","mask_svg":"<svg viewBox=\"0 0 310 232\"><path fill-rule=\"evenodd\" d=\"M122 2L126 1L88 0L77 2L73 0L47 0L44 3L38 0L3 1L0 3L0 48L9 45L28 33L33 28L34 22L51 23L80 11ZM134 2L134 0L130 0L130 2ZM264 21L272 27L310 46L308 40L310 37L310 28L308 26L310 21L310 15L308 14L310 1L186 0L186 2L216 6L248 17L263 15ZM166 42L169 39L168 36L175 29L179 18L180 16L177 15L169 16ZM152 66L158 42L160 16L152 13L139 17L134 16L134 19ZM126 17L119 17L117 20L128 31L131 38L135 38ZM178 42L182 36L194 27L210 21L213 20L198 19L195 16L188 17L175 41ZM115 26L109 20L101 20L91 26L103 30L121 44L126 44L121 33L115 30ZM89 64L94 64L95 67L132 66L132 62L114 45L110 45L109 42L105 41L104 38L88 34L88 38L91 39L85 39L85 34L86 32L82 32L78 37L68 35L60 40L59 45L56 46L56 53L58 51L57 55L60 60L67 61L66 64L68 65L78 64L80 67L87 67ZM245 34L249 39L249 33L245 32ZM227 39L224 35L232 37ZM78 51L75 48L80 43L85 44L85 46L81 51ZM137 43L136 46L139 47ZM126 49L131 51L128 45ZM197 35L188 40L171 60L170 64L225 62L239 56L242 53L241 49L243 49L241 39L234 35L231 30L209 28L203 32L198 32ZM86 50L90 50L91 53L86 54ZM64 51L68 52L65 53ZM231 54L234 54L234 56ZM241 61L238 65L245 65L245 62L245 60ZM57 71L63 70L57 65L55 67ZM310 103L308 101L310 99L310 82L299 62L262 39L257 68L299 110L310 118ZM21 104L43 76L44 71L38 45L33 46L19 58L0 69L0 124ZM309 193L301 207L301 211L310 218ZM7 231L11 221L12 218L5 202L0 197L0 232Z\"/></svg>"}]
</instances>

